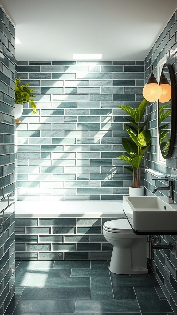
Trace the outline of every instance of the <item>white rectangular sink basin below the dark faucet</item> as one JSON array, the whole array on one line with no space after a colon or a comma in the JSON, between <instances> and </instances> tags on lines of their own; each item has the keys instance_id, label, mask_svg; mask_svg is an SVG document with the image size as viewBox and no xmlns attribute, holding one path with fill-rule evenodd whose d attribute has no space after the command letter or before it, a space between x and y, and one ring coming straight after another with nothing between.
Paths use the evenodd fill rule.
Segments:
<instances>
[{"instance_id":1,"label":"white rectangular sink basin below the dark faucet","mask_svg":"<svg viewBox=\"0 0 177 315\"><path fill-rule=\"evenodd\" d=\"M134 232L177 234L177 203L166 196L125 196L123 211Z\"/></svg>"}]
</instances>

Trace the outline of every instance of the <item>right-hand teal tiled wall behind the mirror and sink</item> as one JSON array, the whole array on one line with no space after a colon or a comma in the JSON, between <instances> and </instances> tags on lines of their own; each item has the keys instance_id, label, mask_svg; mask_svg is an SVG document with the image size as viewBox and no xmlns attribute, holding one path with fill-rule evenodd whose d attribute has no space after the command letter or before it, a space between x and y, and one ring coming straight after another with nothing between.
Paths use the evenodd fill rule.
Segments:
<instances>
[{"instance_id":1,"label":"right-hand teal tiled wall behind the mirror and sink","mask_svg":"<svg viewBox=\"0 0 177 315\"><path fill-rule=\"evenodd\" d=\"M145 59L145 80L149 76L150 69L148 67L153 64L155 68L157 63L164 55L167 55L167 63L173 67L175 83L177 84L177 11L169 20L167 26L164 28L162 34L157 39L156 43L150 50ZM174 178L174 200L177 202L177 142L175 137L174 150L172 156L166 160L166 167L157 163L157 104L150 103L147 107L147 118L149 121L148 128L151 129L152 145L151 150L146 153L145 166L146 169L156 170L164 175L169 175ZM166 186L163 181L154 181L152 178L157 178L149 172L145 172L145 191L146 195L151 196L155 187ZM164 195L165 191L157 191L156 195ZM164 294L166 295L175 314L177 314L177 252L176 252L176 235L161 235L162 244L173 243L174 250L156 249L154 250L152 267L161 285Z\"/></svg>"}]
</instances>

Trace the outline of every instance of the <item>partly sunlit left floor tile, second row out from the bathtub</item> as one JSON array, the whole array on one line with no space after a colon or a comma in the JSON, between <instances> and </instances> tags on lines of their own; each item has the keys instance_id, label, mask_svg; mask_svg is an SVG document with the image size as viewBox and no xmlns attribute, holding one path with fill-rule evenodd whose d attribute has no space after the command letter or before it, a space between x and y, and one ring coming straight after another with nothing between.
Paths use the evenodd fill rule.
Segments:
<instances>
[{"instance_id":1,"label":"partly sunlit left floor tile, second row out from the bathtub","mask_svg":"<svg viewBox=\"0 0 177 315\"><path fill-rule=\"evenodd\" d=\"M30 278L38 278L38 277L70 277L71 276L71 268L70 269L54 269L54 268L46 268L46 269L33 269Z\"/></svg>"}]
</instances>

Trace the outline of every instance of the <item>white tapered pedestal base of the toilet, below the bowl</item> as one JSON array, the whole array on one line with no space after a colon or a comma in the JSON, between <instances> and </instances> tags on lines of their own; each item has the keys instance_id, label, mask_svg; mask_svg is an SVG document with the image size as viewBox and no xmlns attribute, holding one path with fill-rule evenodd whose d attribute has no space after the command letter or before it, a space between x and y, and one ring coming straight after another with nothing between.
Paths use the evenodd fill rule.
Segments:
<instances>
[{"instance_id":1,"label":"white tapered pedestal base of the toilet, below the bowl","mask_svg":"<svg viewBox=\"0 0 177 315\"><path fill-rule=\"evenodd\" d=\"M144 248L141 247L141 252L132 248L114 246L109 270L117 274L148 273L146 243L144 245Z\"/></svg>"}]
</instances>

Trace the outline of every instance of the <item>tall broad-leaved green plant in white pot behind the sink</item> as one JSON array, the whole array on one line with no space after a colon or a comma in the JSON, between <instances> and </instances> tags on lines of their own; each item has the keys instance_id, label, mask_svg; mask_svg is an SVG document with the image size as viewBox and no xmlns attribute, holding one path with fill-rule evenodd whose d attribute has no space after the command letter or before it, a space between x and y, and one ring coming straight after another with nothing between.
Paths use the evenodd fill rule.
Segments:
<instances>
[{"instance_id":1,"label":"tall broad-leaved green plant in white pot behind the sink","mask_svg":"<svg viewBox=\"0 0 177 315\"><path fill-rule=\"evenodd\" d=\"M143 100L138 108L117 105L132 118L124 117L128 121L128 124L125 124L124 126L130 139L122 138L122 145L128 155L119 155L117 158L130 164L130 167L125 166L125 168L133 175L133 186L129 187L129 194L136 196L144 195L144 187L140 186L140 168L144 153L151 144L150 131L144 129L147 120L142 122L146 105L146 100ZM138 188L141 188L139 189L140 192Z\"/></svg>"}]
</instances>

